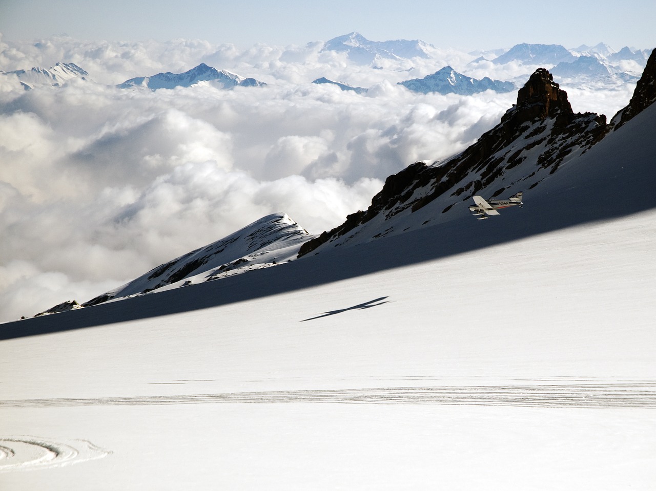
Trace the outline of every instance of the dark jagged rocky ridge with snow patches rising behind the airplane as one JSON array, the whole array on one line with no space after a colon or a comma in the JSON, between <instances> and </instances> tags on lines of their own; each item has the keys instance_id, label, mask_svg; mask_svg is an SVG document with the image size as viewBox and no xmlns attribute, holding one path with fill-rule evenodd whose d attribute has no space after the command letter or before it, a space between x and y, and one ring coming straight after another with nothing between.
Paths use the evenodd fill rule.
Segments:
<instances>
[{"instance_id":1,"label":"dark jagged rocky ridge with snow patches rising behind the airplane","mask_svg":"<svg viewBox=\"0 0 656 491\"><path fill-rule=\"evenodd\" d=\"M485 192L496 197L520 184L516 191L531 189L567 157L580 155L603 138L606 128L604 115L574 113L567 93L554 83L548 70L539 68L518 91L517 104L478 142L445 161L432 165L418 162L389 176L366 211L349 215L340 226L308 241L298 256L326 243L341 245L359 233L354 229L373 218L380 222L417 212L440 197L444 214L455 202L474 194ZM378 228L384 229L380 224ZM392 229L390 224L388 230ZM377 237L364 233L358 240Z\"/></svg>"}]
</instances>

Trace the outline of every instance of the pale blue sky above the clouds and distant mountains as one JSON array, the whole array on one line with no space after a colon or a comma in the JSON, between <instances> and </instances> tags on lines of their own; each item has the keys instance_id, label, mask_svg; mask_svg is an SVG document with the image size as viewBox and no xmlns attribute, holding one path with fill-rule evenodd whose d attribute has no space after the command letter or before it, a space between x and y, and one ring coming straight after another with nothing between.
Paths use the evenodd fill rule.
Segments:
<instances>
[{"instance_id":1,"label":"pale blue sky above the clouds and distant mountains","mask_svg":"<svg viewBox=\"0 0 656 491\"><path fill-rule=\"evenodd\" d=\"M441 48L604 42L644 49L656 45L655 19L653 0L0 0L5 40L66 33L86 40L205 39L243 48L304 45L358 31L373 41L422 39Z\"/></svg>"}]
</instances>

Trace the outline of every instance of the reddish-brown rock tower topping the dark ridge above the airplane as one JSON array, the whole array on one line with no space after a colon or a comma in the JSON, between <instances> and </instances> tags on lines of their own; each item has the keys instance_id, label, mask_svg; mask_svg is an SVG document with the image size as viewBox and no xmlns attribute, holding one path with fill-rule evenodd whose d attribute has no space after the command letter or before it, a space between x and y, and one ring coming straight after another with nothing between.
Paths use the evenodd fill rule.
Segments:
<instances>
[{"instance_id":1,"label":"reddish-brown rock tower topping the dark ridge above the airplane","mask_svg":"<svg viewBox=\"0 0 656 491\"><path fill-rule=\"evenodd\" d=\"M521 125L556 116L569 121L573 115L567 92L560 89L547 69L538 68L517 92L516 106L502 117L501 123Z\"/></svg>"}]
</instances>

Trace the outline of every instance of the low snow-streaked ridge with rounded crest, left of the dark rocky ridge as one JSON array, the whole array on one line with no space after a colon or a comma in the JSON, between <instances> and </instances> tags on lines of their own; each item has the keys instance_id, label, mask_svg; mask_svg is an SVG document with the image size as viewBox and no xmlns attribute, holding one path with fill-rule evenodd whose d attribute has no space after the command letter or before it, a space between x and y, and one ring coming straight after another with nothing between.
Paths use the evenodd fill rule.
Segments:
<instances>
[{"instance_id":1,"label":"low snow-streaked ridge with rounded crest, left of the dark rocky ridge","mask_svg":"<svg viewBox=\"0 0 656 491\"><path fill-rule=\"evenodd\" d=\"M295 258L300 245L310 237L287 214L264 216L220 241L161 264L130 283L85 302L83 306L276 265Z\"/></svg>"}]
</instances>

